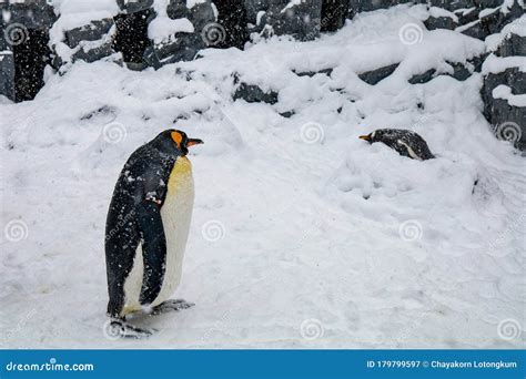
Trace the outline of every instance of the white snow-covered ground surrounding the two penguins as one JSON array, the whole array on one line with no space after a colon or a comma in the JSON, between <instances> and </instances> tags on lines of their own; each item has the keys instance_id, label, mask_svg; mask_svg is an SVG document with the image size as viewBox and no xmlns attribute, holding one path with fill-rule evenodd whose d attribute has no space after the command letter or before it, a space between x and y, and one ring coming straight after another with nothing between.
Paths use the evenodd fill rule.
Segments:
<instances>
[{"instance_id":1,"label":"white snow-covered ground surrounding the two penguins","mask_svg":"<svg viewBox=\"0 0 526 379\"><path fill-rule=\"evenodd\" d=\"M403 43L422 12L159 71L79 62L34 101L3 101L2 346L524 347L525 161L483 117L479 74L407 83L486 48L446 30ZM375 86L357 78L395 62ZM234 72L279 103L233 102ZM149 339L110 340L109 201L131 152L173 126L205 141L175 294L196 306L136 317L159 330ZM437 158L357 139L380 127L416 131Z\"/></svg>"}]
</instances>

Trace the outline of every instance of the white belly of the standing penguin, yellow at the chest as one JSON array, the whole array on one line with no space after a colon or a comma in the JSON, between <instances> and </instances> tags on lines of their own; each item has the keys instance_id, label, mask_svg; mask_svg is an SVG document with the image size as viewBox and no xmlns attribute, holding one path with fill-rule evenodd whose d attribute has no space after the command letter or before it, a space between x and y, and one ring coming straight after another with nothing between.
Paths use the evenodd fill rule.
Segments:
<instances>
[{"instance_id":1,"label":"white belly of the standing penguin, yellow at the chest","mask_svg":"<svg viewBox=\"0 0 526 379\"><path fill-rule=\"evenodd\" d=\"M161 291L151 306L156 306L172 296L181 281L184 248L192 219L194 187L192 165L186 157L179 157L168 182L168 192L161 208L161 218L166 237L166 264ZM133 268L124 283L124 307L122 315L140 310L144 264L142 246L139 245Z\"/></svg>"}]
</instances>

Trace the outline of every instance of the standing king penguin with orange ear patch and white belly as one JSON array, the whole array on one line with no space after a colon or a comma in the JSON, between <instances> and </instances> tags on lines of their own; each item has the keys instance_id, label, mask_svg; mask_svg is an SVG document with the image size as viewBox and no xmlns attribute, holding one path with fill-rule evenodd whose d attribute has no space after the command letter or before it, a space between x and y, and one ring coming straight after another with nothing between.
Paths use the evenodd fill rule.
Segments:
<instances>
[{"instance_id":1,"label":"standing king penguin with orange ear patch and white belly","mask_svg":"<svg viewBox=\"0 0 526 379\"><path fill-rule=\"evenodd\" d=\"M113 192L105 226L112 334L145 337L125 322L138 310L160 314L193 306L169 300L181 269L194 198L190 146L203 141L166 130L129 157Z\"/></svg>"}]
</instances>

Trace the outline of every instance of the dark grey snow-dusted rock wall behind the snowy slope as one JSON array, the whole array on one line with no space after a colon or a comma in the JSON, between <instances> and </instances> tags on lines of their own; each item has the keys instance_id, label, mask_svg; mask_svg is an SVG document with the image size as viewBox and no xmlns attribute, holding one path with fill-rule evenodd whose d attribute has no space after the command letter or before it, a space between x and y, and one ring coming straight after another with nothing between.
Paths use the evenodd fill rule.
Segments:
<instances>
[{"instance_id":1,"label":"dark grey snow-dusted rock wall behind the snowy slope","mask_svg":"<svg viewBox=\"0 0 526 379\"><path fill-rule=\"evenodd\" d=\"M485 60L488 59L526 55L524 32L519 32L526 28L526 21L519 20L525 13L522 0L206 0L191 8L185 0L172 0L165 10L156 9L154 0L115 2L119 9L115 17L91 20L84 25L63 31L63 40L60 43L63 43L65 49L59 47L57 41L53 42L53 51L49 55L55 69L64 70L77 60L93 62L100 59L112 59L117 62L122 59L129 68L135 70L160 68L181 60L192 60L204 48L242 49L249 41L249 34L253 32L261 35L287 34L307 41L315 39L321 32L336 31L343 27L345 20L352 20L358 12L386 9L401 3L427 4L429 18L424 24L428 30L449 29L481 40L499 35L500 31L507 30L506 25L516 23L515 27L508 28L510 30L507 30L493 51L468 62L468 66L446 63L452 65L452 75L457 80L467 79L473 69L483 70L484 85L481 95L485 104L485 116L494 125L498 137L503 137L503 124L517 125L519 136L514 136L513 142L517 147L525 148L525 107L510 104L504 99L506 96L503 98L500 86L509 88L512 95L524 94L525 73L518 66L507 66L502 72L484 72L483 69ZM9 35L4 32L9 28L12 29L14 38L20 34L13 25L21 27L22 38L27 30L45 33L57 21L55 10L45 0L2 2L0 7L3 14L9 13L9 18L3 17L0 20L4 35ZM148 30L156 18L186 19L192 30L175 32L174 35L153 41L149 38ZM23 73L20 68L17 70L18 62L27 64L24 57L23 49L17 48L6 38L0 41L0 94L12 100L18 99L18 83L34 75L34 72ZM20 78L20 74L17 76L20 72L26 79ZM393 66L380 68L361 73L360 76L374 85L392 72ZM435 76L436 72L429 70L411 78L409 83L424 83ZM34 76L31 80L40 85ZM236 96L250 98L251 101L267 101L267 96L262 95L264 92L260 93L251 85L241 88Z\"/></svg>"}]
</instances>

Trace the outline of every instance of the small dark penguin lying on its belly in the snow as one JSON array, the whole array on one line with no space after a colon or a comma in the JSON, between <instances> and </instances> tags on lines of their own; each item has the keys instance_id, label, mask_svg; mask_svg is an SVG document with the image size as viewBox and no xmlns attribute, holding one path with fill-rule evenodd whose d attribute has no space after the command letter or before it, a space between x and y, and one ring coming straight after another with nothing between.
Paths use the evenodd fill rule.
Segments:
<instances>
[{"instance_id":1,"label":"small dark penguin lying on its belly in the snow","mask_svg":"<svg viewBox=\"0 0 526 379\"><path fill-rule=\"evenodd\" d=\"M361 135L360 139L368 143L383 142L391 148L396 150L399 155L408 156L413 160L425 161L435 157L425 140L412 131L378 129L367 135Z\"/></svg>"}]
</instances>

